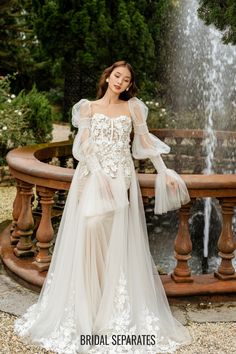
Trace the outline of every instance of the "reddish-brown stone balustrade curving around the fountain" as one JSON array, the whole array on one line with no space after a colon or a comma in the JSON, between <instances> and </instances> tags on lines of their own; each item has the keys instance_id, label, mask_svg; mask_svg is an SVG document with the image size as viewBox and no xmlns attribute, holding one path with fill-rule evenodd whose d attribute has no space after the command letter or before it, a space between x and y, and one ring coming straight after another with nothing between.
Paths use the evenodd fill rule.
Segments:
<instances>
[{"instance_id":1,"label":"reddish-brown stone balustrade curving around the fountain","mask_svg":"<svg viewBox=\"0 0 236 354\"><path fill-rule=\"evenodd\" d=\"M201 166L203 157L196 146L202 144L202 132L156 130L153 133L169 144L174 141L172 145L177 147L176 151L178 146L182 149L183 141L185 148L187 147L188 154L186 150L182 151L180 158L178 151L175 159L170 154L168 166L171 163L173 166L169 167L175 168L175 161L179 162L184 158L185 169L186 166L189 169L186 156L189 157L188 161L195 159ZM222 132L218 133L222 149L225 147L227 150L225 140L230 144L231 140L235 142L233 136L235 139L231 132L228 136ZM188 148L188 144L193 148ZM220 154L219 161L222 163L223 151ZM54 164L51 164L52 160ZM13 204L13 222L3 231L0 238L1 255L6 268L14 276L35 288L42 286L50 264L54 236L52 217L55 213L61 214L65 191L69 189L73 177L74 170L68 167L68 160L71 167L75 167L75 161L71 158L71 142L22 147L12 150L7 156L11 174L16 180L17 193ZM137 161L135 164L137 165ZM138 168L139 172L145 170L142 161ZM174 243L176 267L170 276L162 276L166 292L169 296L236 292L236 273L232 264L236 248L232 232L232 216L236 205L236 175L207 176L184 173L182 177L188 187L191 202L179 210L179 230ZM155 175L138 173L138 179L145 202L154 195ZM214 274L192 275L189 266L192 242L188 220L193 201L203 197L217 198L221 205L222 231L218 240L221 263Z\"/></svg>"}]
</instances>

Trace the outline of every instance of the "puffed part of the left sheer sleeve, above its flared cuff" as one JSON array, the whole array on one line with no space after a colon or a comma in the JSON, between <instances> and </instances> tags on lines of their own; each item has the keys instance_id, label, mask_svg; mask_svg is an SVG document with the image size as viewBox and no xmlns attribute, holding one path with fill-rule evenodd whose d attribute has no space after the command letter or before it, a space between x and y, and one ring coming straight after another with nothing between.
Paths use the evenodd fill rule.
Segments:
<instances>
[{"instance_id":1,"label":"puffed part of the left sheer sleeve, above its flared cuff","mask_svg":"<svg viewBox=\"0 0 236 354\"><path fill-rule=\"evenodd\" d=\"M91 106L86 99L72 107L72 124L78 128L74 139L72 154L76 160L85 161L90 172L101 170L96 149L90 138Z\"/></svg>"}]
</instances>

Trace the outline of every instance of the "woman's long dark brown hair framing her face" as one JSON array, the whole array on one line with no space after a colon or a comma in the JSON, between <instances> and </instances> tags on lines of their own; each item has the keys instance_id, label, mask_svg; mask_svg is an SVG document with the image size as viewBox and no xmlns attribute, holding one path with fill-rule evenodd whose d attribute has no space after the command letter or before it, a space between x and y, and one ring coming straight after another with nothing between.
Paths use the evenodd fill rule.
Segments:
<instances>
[{"instance_id":1,"label":"woman's long dark brown hair framing her face","mask_svg":"<svg viewBox=\"0 0 236 354\"><path fill-rule=\"evenodd\" d=\"M111 75L112 71L119 66L125 66L131 74L130 86L128 91L121 92L119 98L123 101L128 101L131 97L134 97L137 92L137 86L134 80L134 70L132 66L125 60L116 61L114 64L106 68L98 82L97 99L102 98L107 90L108 83L106 79Z\"/></svg>"}]
</instances>

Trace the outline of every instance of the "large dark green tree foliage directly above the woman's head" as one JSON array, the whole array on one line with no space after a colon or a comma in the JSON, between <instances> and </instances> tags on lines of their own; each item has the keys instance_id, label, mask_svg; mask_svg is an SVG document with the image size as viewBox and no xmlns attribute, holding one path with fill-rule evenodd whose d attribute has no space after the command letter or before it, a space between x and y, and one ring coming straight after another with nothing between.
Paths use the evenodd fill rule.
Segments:
<instances>
[{"instance_id":1,"label":"large dark green tree foliage directly above the woman's head","mask_svg":"<svg viewBox=\"0 0 236 354\"><path fill-rule=\"evenodd\" d=\"M37 1L34 26L47 55L63 57L66 66L73 62L99 71L124 58L142 75L155 60L155 24L150 22L155 13L149 9L160 2Z\"/></svg>"}]
</instances>

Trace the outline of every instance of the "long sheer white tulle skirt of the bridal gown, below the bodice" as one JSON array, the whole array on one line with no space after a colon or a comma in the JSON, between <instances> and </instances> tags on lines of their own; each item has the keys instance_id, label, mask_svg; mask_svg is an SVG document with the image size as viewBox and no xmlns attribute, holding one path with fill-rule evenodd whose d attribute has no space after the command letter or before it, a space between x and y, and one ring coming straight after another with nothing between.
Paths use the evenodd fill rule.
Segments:
<instances>
[{"instance_id":1,"label":"long sheer white tulle skirt of the bridal gown, below the bodice","mask_svg":"<svg viewBox=\"0 0 236 354\"><path fill-rule=\"evenodd\" d=\"M64 354L173 353L190 343L150 255L134 169L129 193L126 182L102 171L83 178L78 165L38 302L15 321L27 342Z\"/></svg>"}]
</instances>

